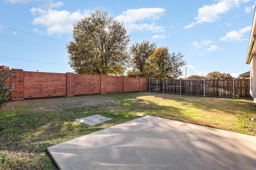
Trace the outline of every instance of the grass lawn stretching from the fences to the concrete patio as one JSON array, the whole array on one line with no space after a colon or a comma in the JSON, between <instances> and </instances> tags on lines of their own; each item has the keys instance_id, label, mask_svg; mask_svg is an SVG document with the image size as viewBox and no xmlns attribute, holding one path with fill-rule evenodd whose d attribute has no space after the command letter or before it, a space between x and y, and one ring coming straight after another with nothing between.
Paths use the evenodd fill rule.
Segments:
<instances>
[{"instance_id":1,"label":"grass lawn stretching from the fences to the concrete patio","mask_svg":"<svg viewBox=\"0 0 256 170\"><path fill-rule=\"evenodd\" d=\"M0 169L56 169L46 148L132 119L154 115L256 136L252 100L136 92L9 102L0 109ZM74 121L90 115L113 120Z\"/></svg>"}]
</instances>

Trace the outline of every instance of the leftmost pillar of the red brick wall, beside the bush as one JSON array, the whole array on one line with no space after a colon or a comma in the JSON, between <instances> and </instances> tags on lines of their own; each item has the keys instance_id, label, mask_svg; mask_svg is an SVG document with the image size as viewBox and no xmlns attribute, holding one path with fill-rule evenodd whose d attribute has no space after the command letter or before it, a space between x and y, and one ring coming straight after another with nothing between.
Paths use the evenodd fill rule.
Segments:
<instances>
[{"instance_id":1,"label":"leftmost pillar of the red brick wall, beside the bush","mask_svg":"<svg viewBox=\"0 0 256 170\"><path fill-rule=\"evenodd\" d=\"M24 99L24 73L23 69L11 70L12 77L11 83L14 84L12 89L11 100L23 100Z\"/></svg>"}]
</instances>

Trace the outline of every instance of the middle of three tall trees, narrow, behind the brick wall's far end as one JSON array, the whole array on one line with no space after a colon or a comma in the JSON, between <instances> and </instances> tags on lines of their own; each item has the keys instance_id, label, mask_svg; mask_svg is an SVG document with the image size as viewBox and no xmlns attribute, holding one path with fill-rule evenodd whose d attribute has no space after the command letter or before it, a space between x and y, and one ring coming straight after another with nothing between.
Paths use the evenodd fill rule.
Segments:
<instances>
[{"instance_id":1,"label":"middle of three tall trees, narrow, behind the brick wall's far end","mask_svg":"<svg viewBox=\"0 0 256 170\"><path fill-rule=\"evenodd\" d=\"M143 40L141 43L133 44L130 47L132 70L128 72L127 76L150 78L152 67L149 59L155 50L156 43L150 43L150 41Z\"/></svg>"}]
</instances>

